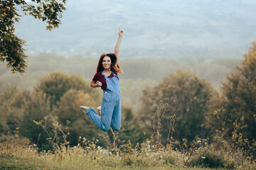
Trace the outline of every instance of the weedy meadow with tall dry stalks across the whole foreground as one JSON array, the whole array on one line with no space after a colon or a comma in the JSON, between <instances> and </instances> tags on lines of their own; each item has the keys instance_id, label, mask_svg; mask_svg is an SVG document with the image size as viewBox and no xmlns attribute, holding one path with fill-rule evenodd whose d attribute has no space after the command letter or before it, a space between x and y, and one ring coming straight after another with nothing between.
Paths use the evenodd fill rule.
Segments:
<instances>
[{"instance_id":1,"label":"weedy meadow with tall dry stalks across the whole foreground","mask_svg":"<svg viewBox=\"0 0 256 170\"><path fill-rule=\"evenodd\" d=\"M40 123L39 123L40 124ZM43 123L41 123L43 127ZM160 127L159 127L160 128ZM112 131L112 143L104 148L92 141L79 137L78 145L69 146L66 135L60 142L55 124L54 138L48 140L53 149L38 152L38 145L19 136L7 135L6 141L0 143L0 169L255 169L256 162L242 147L230 143L218 134L215 142L197 138L190 144L184 141L177 149L176 142L162 145L159 129L150 139L132 147L130 141L120 141L119 132ZM110 142L107 132L102 139Z\"/></svg>"}]
</instances>

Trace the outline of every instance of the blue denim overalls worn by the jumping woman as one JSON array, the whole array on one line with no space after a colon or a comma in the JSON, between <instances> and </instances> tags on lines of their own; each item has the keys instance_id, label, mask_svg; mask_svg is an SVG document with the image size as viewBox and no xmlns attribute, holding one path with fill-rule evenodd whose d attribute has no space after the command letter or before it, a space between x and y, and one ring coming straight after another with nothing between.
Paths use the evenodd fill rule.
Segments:
<instances>
[{"instance_id":1,"label":"blue denim overalls worn by the jumping woman","mask_svg":"<svg viewBox=\"0 0 256 170\"><path fill-rule=\"evenodd\" d=\"M93 108L89 108L87 115L92 121L104 132L110 129L119 130L121 126L121 98L119 78L117 74L114 77L108 78L102 72L106 79L107 90L103 91L101 116L99 117Z\"/></svg>"}]
</instances>

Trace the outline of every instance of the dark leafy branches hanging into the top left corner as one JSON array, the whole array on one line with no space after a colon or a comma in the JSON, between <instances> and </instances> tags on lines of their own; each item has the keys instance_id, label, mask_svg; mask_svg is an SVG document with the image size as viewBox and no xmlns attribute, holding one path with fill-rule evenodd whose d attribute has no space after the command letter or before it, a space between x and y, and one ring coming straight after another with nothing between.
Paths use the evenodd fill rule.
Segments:
<instances>
[{"instance_id":1,"label":"dark leafy branches hanging into the top left corner","mask_svg":"<svg viewBox=\"0 0 256 170\"><path fill-rule=\"evenodd\" d=\"M26 71L26 55L23 45L25 41L14 34L14 23L20 20L18 6L21 7L24 15L31 15L41 21L46 21L47 30L58 28L60 18L65 11L66 0L31 0L28 4L25 0L0 0L0 61L7 62L11 72L23 73ZM63 3L63 4L62 4Z\"/></svg>"}]
</instances>

